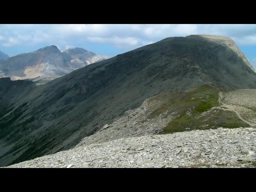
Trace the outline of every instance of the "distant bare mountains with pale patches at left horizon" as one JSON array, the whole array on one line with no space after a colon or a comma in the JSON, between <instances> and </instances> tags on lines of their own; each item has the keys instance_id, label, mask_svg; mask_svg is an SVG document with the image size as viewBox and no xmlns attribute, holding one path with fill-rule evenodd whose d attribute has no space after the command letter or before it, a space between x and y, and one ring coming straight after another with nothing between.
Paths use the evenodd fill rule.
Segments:
<instances>
[{"instance_id":1,"label":"distant bare mountains with pale patches at left horizon","mask_svg":"<svg viewBox=\"0 0 256 192\"><path fill-rule=\"evenodd\" d=\"M77 47L60 52L56 45L50 45L1 60L0 78L29 79L43 84L106 58Z\"/></svg>"}]
</instances>

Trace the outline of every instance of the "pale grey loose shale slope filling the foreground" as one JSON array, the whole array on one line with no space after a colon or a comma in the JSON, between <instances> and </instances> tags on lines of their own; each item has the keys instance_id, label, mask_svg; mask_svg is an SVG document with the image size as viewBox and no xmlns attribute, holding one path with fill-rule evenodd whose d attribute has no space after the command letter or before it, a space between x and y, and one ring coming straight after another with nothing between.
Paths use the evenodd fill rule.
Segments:
<instances>
[{"instance_id":1,"label":"pale grey loose shale slope filling the foreground","mask_svg":"<svg viewBox=\"0 0 256 192\"><path fill-rule=\"evenodd\" d=\"M9 168L256 167L256 128L218 128L81 145Z\"/></svg>"}]
</instances>

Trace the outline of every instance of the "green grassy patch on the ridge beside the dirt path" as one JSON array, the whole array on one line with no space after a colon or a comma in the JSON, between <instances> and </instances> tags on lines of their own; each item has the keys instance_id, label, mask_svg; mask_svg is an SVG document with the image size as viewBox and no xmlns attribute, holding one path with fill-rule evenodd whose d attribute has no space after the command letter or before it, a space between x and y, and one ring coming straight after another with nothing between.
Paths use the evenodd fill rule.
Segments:
<instances>
[{"instance_id":1,"label":"green grassy patch on the ridge beside the dirt path","mask_svg":"<svg viewBox=\"0 0 256 192\"><path fill-rule=\"evenodd\" d=\"M160 114L164 114L163 118L169 115L174 116L174 119L163 128L164 134L194 129L248 126L234 112L213 108L220 104L218 89L212 86L204 85L184 93L160 94L151 98L152 102L154 100L158 102L149 109L152 113L148 118L154 118Z\"/></svg>"}]
</instances>

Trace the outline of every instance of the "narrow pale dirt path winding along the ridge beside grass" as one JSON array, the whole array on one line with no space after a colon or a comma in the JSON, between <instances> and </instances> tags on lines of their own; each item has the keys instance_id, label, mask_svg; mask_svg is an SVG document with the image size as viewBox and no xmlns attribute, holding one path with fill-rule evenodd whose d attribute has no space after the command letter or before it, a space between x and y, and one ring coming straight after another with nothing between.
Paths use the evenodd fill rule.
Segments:
<instances>
[{"instance_id":1,"label":"narrow pale dirt path winding along the ridge beside grass","mask_svg":"<svg viewBox=\"0 0 256 192\"><path fill-rule=\"evenodd\" d=\"M212 86L212 85L210 85ZM214 86L212 86L214 87ZM217 88L217 87L214 87L216 88L218 91L219 91L219 99L218 99L218 102L220 104L222 104L219 108L221 108L222 110L225 110L225 111L232 111L234 113L236 113L236 115L238 116L238 118L240 118L240 120L242 120L243 122L246 122L247 124L249 124L250 126L256 126L256 124L253 124L251 122L248 122L247 120L245 120L244 118L242 118L240 112L238 111L238 108L241 108L240 110L242 110L242 106L236 106L236 105L232 105L232 104L226 104L224 102L222 102L222 99L223 99L223 94L222 94L222 91Z\"/></svg>"}]
</instances>

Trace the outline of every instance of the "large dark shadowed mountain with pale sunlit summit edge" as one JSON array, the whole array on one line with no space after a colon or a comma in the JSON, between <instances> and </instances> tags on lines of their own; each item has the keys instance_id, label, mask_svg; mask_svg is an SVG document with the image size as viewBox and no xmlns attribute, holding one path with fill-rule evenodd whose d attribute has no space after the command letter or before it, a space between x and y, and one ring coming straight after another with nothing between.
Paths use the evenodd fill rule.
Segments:
<instances>
[{"instance_id":1,"label":"large dark shadowed mountain with pale sunlit summit edge","mask_svg":"<svg viewBox=\"0 0 256 192\"><path fill-rule=\"evenodd\" d=\"M71 148L150 96L203 84L256 88L256 73L232 40L216 36L166 38L80 68L33 89L0 118L0 165Z\"/></svg>"}]
</instances>

